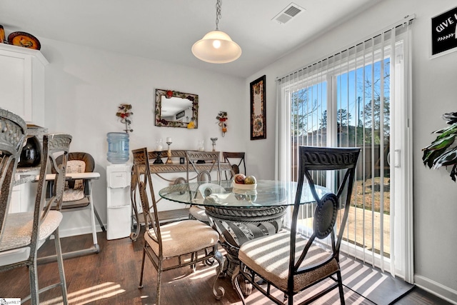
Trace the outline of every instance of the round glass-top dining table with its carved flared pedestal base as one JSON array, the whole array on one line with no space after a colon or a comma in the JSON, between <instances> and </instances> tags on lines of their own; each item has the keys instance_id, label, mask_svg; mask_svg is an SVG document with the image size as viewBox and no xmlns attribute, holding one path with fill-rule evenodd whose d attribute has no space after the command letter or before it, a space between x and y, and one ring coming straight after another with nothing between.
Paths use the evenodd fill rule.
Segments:
<instances>
[{"instance_id":1,"label":"round glass-top dining table with its carved flared pedestal base","mask_svg":"<svg viewBox=\"0 0 457 305\"><path fill-rule=\"evenodd\" d=\"M241 189L232 181L193 182L167 186L159 191L159 196L204 207L211 226L223 236L220 243L228 259L223 271L233 279L238 273L241 244L281 230L283 218L294 204L297 185L293 181L258 180L255 189ZM329 191L316 186L319 198ZM309 184L303 184L300 202L315 202Z\"/></svg>"}]
</instances>

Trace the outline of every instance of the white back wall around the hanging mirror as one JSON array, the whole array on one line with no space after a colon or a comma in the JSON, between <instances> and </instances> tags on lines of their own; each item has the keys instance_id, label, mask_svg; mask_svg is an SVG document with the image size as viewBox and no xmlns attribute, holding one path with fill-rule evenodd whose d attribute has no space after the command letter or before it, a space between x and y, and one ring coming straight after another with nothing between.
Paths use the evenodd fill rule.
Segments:
<instances>
[{"instance_id":1,"label":"white back wall around the hanging mirror","mask_svg":"<svg viewBox=\"0 0 457 305\"><path fill-rule=\"evenodd\" d=\"M171 136L172 149L196 149L197 141L204 139L206 150L211 150L210 138L217 137L216 150L245 151L249 139L248 114L240 111L245 98L244 79L40 40L41 51L50 62L45 71L45 127L49 132L71 134L71 151L86 151L94 156L96 171L101 174L93 184L94 201L105 224L106 166L109 165L106 133L122 132L125 128L116 116L119 104L133 107L131 149L144 146L154 149L156 140L165 141ZM154 126L156 89L199 94L199 128ZM219 111L227 111L229 117L224 137L216 120ZM89 233L88 215L64 214L61 235Z\"/></svg>"}]
</instances>

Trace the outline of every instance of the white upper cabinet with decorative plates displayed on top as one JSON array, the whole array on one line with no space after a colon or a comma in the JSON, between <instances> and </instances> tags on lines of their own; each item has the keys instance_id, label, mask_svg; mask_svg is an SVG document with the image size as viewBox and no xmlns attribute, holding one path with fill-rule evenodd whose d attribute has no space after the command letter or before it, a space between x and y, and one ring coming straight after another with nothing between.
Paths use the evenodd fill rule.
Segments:
<instances>
[{"instance_id":1,"label":"white upper cabinet with decorative plates displayed on top","mask_svg":"<svg viewBox=\"0 0 457 305\"><path fill-rule=\"evenodd\" d=\"M0 44L0 107L44 126L44 67L38 50Z\"/></svg>"}]
</instances>

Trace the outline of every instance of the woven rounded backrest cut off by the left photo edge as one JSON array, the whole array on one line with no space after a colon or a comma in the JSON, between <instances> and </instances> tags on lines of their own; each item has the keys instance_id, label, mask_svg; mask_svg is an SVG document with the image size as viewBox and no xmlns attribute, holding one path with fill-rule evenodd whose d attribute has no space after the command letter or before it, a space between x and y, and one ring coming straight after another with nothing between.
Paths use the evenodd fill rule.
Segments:
<instances>
[{"instance_id":1,"label":"woven rounded backrest cut off by the left photo edge","mask_svg":"<svg viewBox=\"0 0 457 305\"><path fill-rule=\"evenodd\" d=\"M4 232L19 156L27 135L26 122L0 109L0 240Z\"/></svg>"}]
</instances>

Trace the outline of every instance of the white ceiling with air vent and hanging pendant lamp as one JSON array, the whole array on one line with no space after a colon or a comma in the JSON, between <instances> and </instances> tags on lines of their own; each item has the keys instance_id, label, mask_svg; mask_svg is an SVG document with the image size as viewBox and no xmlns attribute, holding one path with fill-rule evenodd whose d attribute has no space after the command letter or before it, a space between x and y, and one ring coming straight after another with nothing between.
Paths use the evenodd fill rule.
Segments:
<instances>
[{"instance_id":1,"label":"white ceiling with air vent and hanging pendant lamp","mask_svg":"<svg viewBox=\"0 0 457 305\"><path fill-rule=\"evenodd\" d=\"M229 64L208 64L191 53L195 41L216 29L216 0L0 0L0 24L6 36L25 31L245 78L379 1L224 0L219 30L243 51ZM286 24L271 20L291 2L306 11Z\"/></svg>"}]
</instances>

